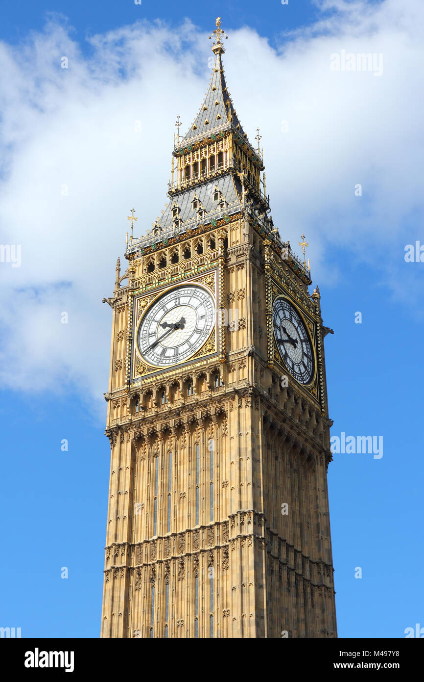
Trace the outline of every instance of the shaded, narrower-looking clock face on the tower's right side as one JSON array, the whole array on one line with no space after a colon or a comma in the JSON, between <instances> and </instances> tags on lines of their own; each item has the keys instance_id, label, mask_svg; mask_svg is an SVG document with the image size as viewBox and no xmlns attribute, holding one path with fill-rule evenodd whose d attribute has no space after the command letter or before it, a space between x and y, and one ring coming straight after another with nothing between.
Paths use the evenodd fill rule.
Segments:
<instances>
[{"instance_id":1,"label":"shaded, narrower-looking clock face on the tower's right side","mask_svg":"<svg viewBox=\"0 0 424 682\"><path fill-rule=\"evenodd\" d=\"M279 297L274 302L272 321L284 365L299 383L309 384L314 376L314 351L299 312L290 301Z\"/></svg>"}]
</instances>

